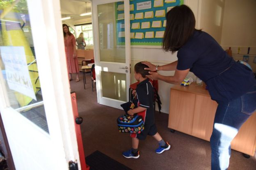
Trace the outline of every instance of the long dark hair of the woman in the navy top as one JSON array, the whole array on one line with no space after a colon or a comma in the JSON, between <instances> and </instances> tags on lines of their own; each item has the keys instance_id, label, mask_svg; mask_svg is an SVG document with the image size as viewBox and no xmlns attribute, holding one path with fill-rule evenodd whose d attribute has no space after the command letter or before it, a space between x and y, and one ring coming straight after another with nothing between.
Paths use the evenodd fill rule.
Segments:
<instances>
[{"instance_id":1,"label":"long dark hair of the woman in the navy top","mask_svg":"<svg viewBox=\"0 0 256 170\"><path fill-rule=\"evenodd\" d=\"M194 13L189 7L181 5L172 8L166 14L162 48L165 51L178 51L197 30L195 25Z\"/></svg>"}]
</instances>

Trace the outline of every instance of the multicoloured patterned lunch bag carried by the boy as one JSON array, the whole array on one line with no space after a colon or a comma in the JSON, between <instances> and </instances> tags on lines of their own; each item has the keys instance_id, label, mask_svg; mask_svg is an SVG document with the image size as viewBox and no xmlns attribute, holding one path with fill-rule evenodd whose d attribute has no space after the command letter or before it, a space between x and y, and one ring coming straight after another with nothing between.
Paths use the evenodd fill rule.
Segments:
<instances>
[{"instance_id":1,"label":"multicoloured patterned lunch bag carried by the boy","mask_svg":"<svg viewBox=\"0 0 256 170\"><path fill-rule=\"evenodd\" d=\"M123 114L117 119L119 132L140 134L144 130L142 116Z\"/></svg>"}]
</instances>

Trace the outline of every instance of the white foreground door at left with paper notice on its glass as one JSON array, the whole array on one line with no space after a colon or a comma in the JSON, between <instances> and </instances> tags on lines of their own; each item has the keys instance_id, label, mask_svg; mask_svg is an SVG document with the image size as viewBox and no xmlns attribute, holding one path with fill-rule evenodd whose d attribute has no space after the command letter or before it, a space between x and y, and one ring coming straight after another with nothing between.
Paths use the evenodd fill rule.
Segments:
<instances>
[{"instance_id":1,"label":"white foreground door at left with paper notice on its glass","mask_svg":"<svg viewBox=\"0 0 256 170\"><path fill-rule=\"evenodd\" d=\"M15 168L80 169L59 1L4 1L0 112Z\"/></svg>"}]
</instances>

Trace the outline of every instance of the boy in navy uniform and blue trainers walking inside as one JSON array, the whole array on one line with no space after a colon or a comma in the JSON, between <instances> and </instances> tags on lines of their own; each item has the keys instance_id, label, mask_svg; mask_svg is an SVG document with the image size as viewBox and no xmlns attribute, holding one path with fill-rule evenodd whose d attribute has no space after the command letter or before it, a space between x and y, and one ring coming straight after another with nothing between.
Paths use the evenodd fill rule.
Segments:
<instances>
[{"instance_id":1,"label":"boy in navy uniform and blue trainers walking inside","mask_svg":"<svg viewBox=\"0 0 256 170\"><path fill-rule=\"evenodd\" d=\"M137 63L134 66L134 77L139 84L136 88L136 94L138 99L138 107L135 109L128 110L128 114L138 114L142 116L144 120L144 130L140 134L131 134L132 137L132 148L123 152L123 156L126 158L139 158L139 140L145 140L147 135L153 136L159 144L159 147L155 150L156 153L161 154L165 150L169 150L171 145L165 142L160 134L157 132L154 119L154 91L149 78L146 75L149 75L149 71L144 70L145 67L148 67L141 62Z\"/></svg>"}]
</instances>

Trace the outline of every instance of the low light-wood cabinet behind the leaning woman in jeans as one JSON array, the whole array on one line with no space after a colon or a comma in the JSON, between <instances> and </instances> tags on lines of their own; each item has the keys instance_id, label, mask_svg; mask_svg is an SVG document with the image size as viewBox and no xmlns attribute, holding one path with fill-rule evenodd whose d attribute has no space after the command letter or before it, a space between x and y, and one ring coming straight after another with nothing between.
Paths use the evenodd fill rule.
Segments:
<instances>
[{"instance_id":1,"label":"low light-wood cabinet behind the leaning woman in jeans","mask_svg":"<svg viewBox=\"0 0 256 170\"><path fill-rule=\"evenodd\" d=\"M205 85L175 85L171 88L168 128L210 141L217 103L211 100ZM231 148L254 156L256 148L256 112L242 125Z\"/></svg>"}]
</instances>

